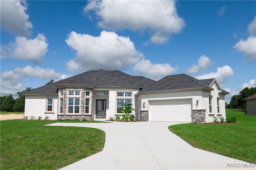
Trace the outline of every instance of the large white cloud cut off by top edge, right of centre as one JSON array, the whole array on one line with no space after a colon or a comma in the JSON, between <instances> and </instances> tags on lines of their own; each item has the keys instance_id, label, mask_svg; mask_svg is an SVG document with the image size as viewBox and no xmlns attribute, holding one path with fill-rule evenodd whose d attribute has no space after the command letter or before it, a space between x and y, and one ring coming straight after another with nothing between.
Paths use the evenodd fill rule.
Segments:
<instances>
[{"instance_id":1,"label":"large white cloud cut off by top edge, right of centre","mask_svg":"<svg viewBox=\"0 0 256 170\"><path fill-rule=\"evenodd\" d=\"M100 21L98 26L108 30L130 29L151 37L148 42L163 44L185 26L177 14L175 1L91 1L84 8ZM147 43L148 43L147 42Z\"/></svg>"}]
</instances>

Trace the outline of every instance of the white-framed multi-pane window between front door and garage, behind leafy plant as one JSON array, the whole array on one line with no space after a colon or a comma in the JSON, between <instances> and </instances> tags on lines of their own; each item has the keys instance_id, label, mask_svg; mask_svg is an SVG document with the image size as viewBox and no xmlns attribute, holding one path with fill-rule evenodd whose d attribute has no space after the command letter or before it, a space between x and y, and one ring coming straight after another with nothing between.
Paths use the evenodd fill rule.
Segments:
<instances>
[{"instance_id":1,"label":"white-framed multi-pane window between front door and garage, behind leafy plant","mask_svg":"<svg viewBox=\"0 0 256 170\"><path fill-rule=\"evenodd\" d=\"M124 108L124 103L126 106L132 104L132 93L130 92L117 92L116 93L116 113L122 113L121 110ZM132 113L130 111L130 113Z\"/></svg>"}]
</instances>

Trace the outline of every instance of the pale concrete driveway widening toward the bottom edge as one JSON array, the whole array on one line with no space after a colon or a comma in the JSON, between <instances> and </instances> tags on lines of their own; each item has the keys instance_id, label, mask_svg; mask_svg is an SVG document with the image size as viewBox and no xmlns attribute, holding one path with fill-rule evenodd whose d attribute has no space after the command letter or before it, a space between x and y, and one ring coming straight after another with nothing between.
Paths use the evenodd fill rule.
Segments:
<instances>
[{"instance_id":1,"label":"pale concrete driveway widening toward the bottom edge","mask_svg":"<svg viewBox=\"0 0 256 170\"><path fill-rule=\"evenodd\" d=\"M91 127L104 130L101 152L62 169L223 169L248 162L192 147L168 126L179 122L54 123L48 126Z\"/></svg>"}]
</instances>

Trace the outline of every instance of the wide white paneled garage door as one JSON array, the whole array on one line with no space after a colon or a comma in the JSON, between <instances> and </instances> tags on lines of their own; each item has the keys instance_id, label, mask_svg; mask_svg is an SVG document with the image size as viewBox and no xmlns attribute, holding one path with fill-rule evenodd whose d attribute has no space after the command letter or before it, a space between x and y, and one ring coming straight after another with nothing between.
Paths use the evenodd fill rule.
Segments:
<instances>
[{"instance_id":1,"label":"wide white paneled garage door","mask_svg":"<svg viewBox=\"0 0 256 170\"><path fill-rule=\"evenodd\" d=\"M150 121L192 122L191 100L150 102Z\"/></svg>"}]
</instances>

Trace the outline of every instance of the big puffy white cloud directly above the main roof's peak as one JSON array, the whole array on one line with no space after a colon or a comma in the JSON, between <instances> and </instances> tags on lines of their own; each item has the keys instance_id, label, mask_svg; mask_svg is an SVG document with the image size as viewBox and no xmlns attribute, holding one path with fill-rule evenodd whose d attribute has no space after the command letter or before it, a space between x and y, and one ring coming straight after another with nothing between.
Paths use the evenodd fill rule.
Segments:
<instances>
[{"instance_id":1,"label":"big puffy white cloud directly above the main roof's peak","mask_svg":"<svg viewBox=\"0 0 256 170\"><path fill-rule=\"evenodd\" d=\"M125 70L144 57L129 37L114 32L102 31L98 37L70 32L66 43L76 51L76 58L67 63L70 71Z\"/></svg>"}]
</instances>

